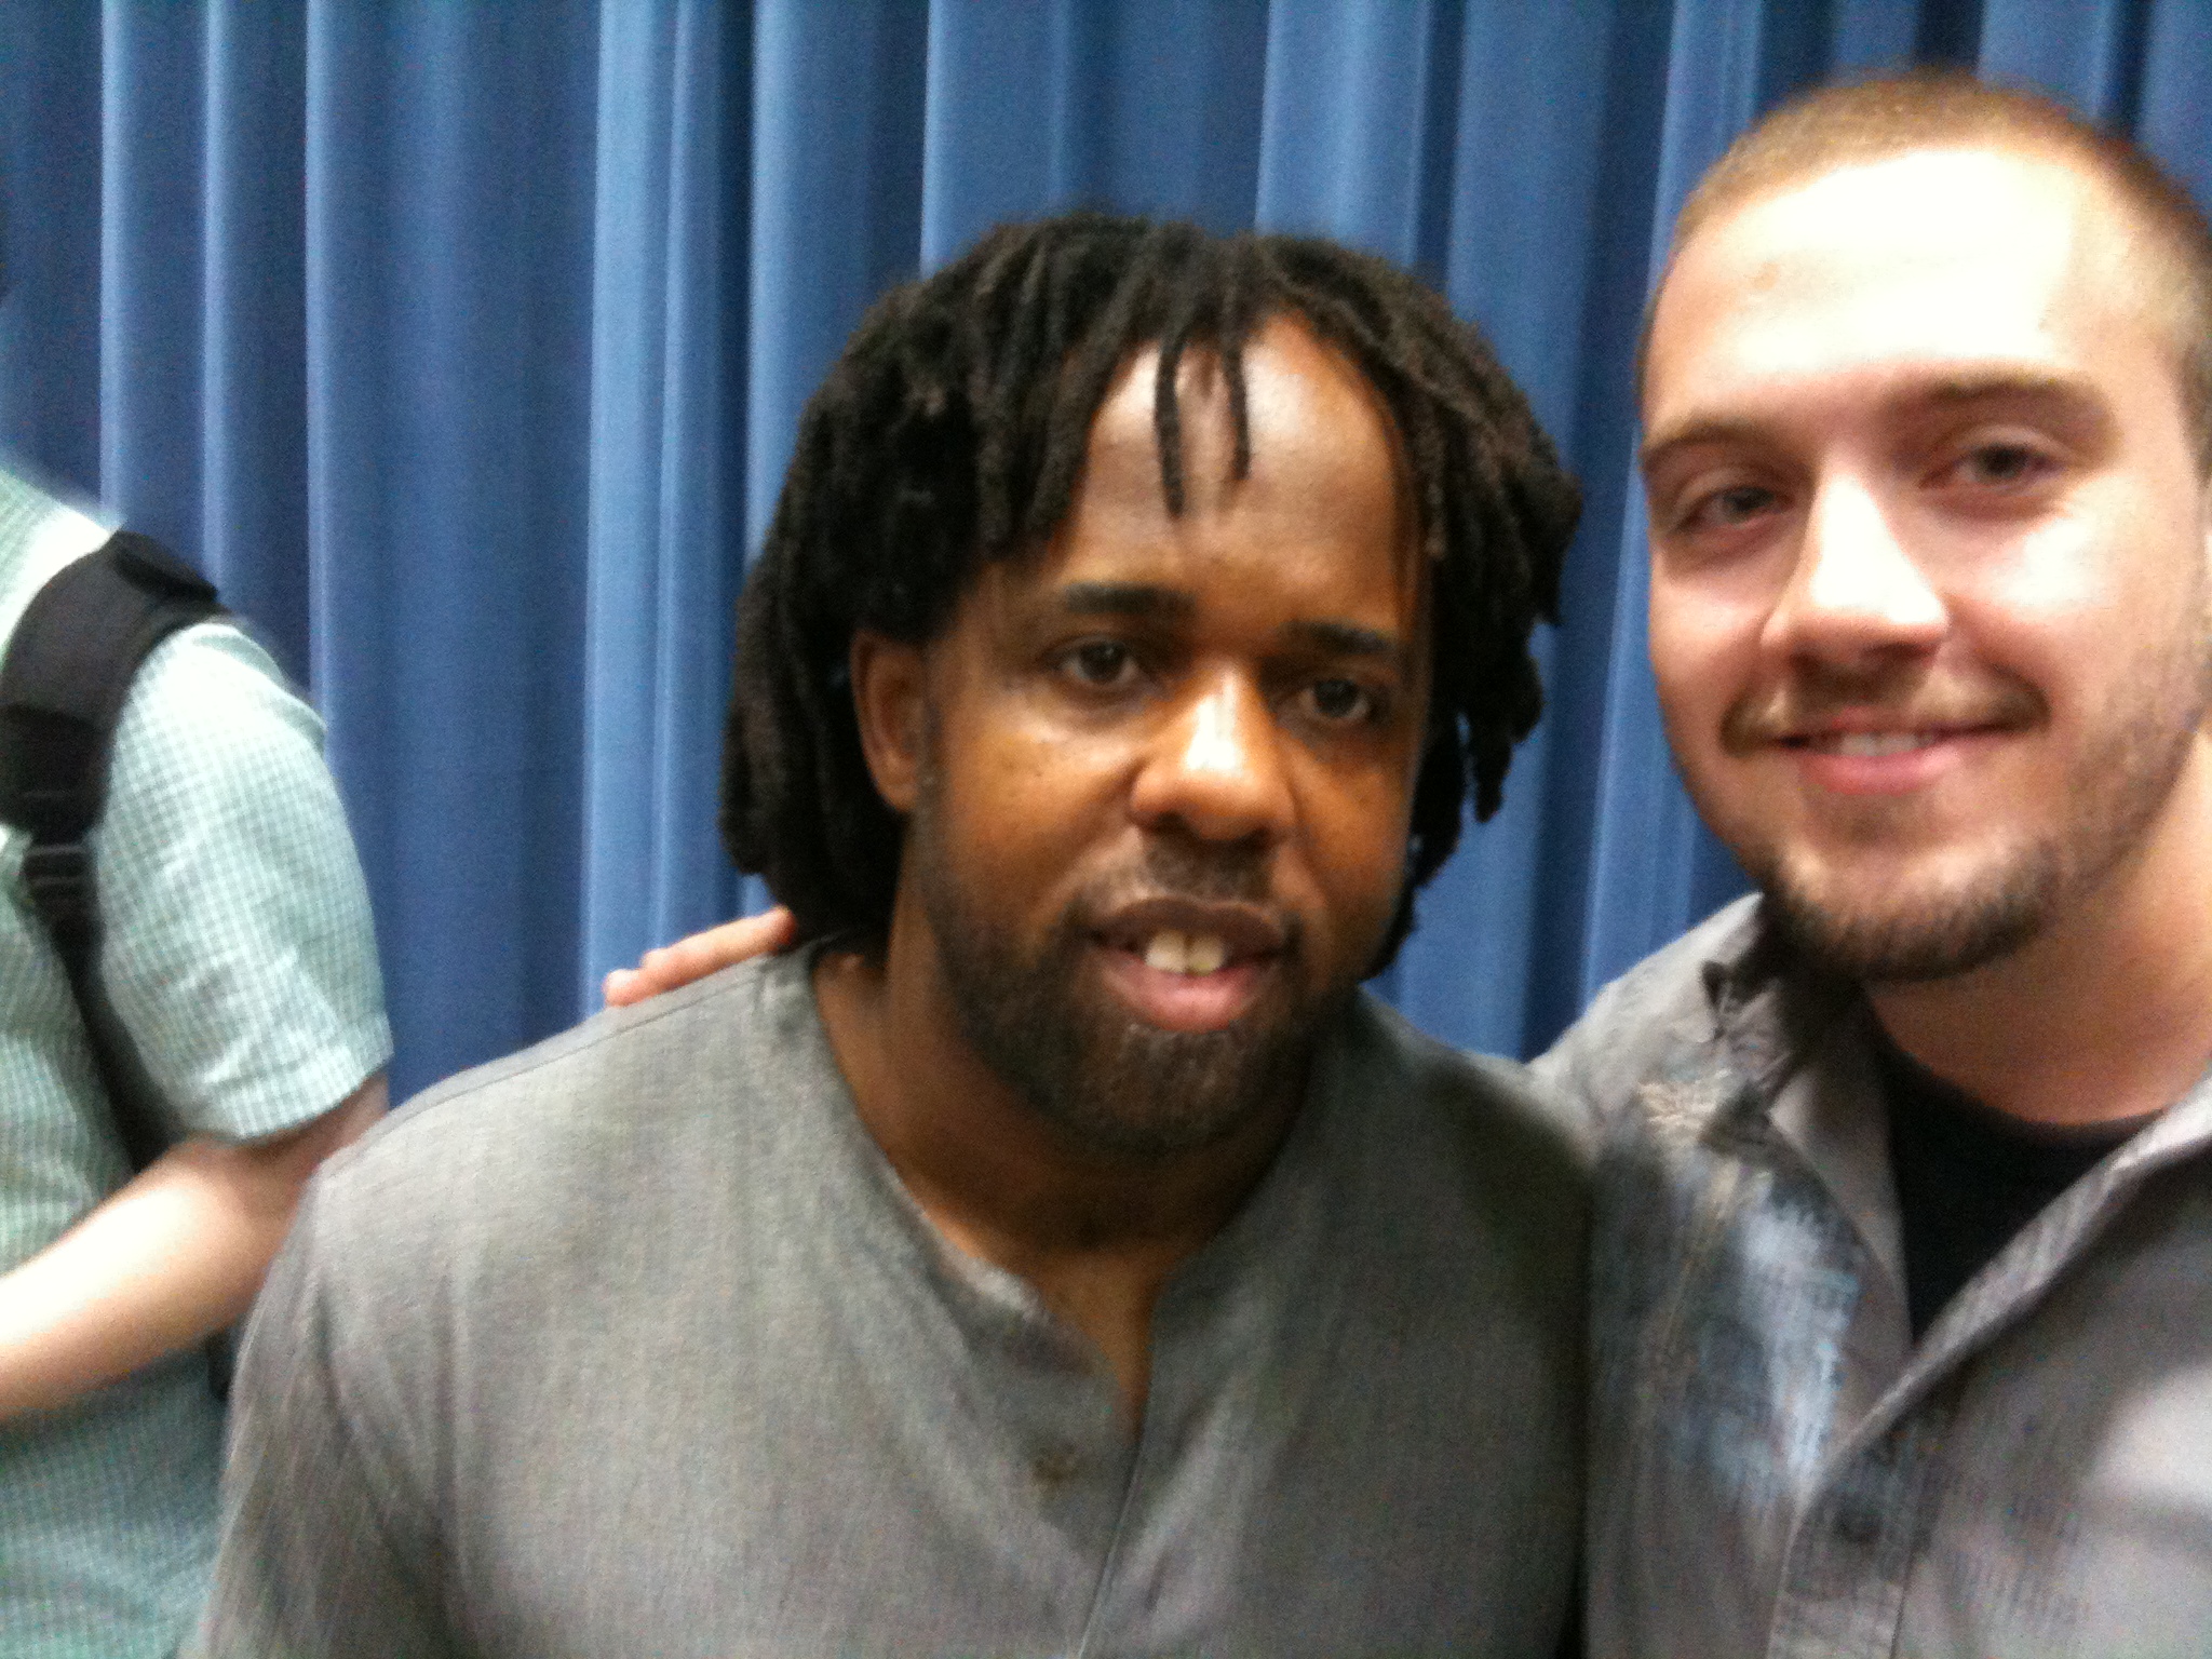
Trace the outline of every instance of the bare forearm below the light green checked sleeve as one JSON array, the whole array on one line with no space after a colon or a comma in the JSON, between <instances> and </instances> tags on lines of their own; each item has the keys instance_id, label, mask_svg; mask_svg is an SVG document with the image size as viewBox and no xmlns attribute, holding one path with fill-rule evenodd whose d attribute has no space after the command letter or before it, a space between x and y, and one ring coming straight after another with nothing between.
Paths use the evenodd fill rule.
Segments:
<instances>
[{"instance_id":1,"label":"bare forearm below the light green checked sleeve","mask_svg":"<svg viewBox=\"0 0 2212 1659\"><path fill-rule=\"evenodd\" d=\"M261 1141L179 1141L0 1276L0 1425L234 1325L316 1164L385 1110L385 1077Z\"/></svg>"}]
</instances>

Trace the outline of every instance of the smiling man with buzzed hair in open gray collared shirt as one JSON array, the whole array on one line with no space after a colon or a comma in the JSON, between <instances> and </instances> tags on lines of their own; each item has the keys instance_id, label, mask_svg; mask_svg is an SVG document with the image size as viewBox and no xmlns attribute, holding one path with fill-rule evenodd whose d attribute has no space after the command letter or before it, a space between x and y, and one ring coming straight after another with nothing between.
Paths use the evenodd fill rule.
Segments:
<instances>
[{"instance_id":1,"label":"smiling man with buzzed hair in open gray collared shirt","mask_svg":"<svg viewBox=\"0 0 2212 1659\"><path fill-rule=\"evenodd\" d=\"M1606 1124L1601 1655L2212 1630L2212 239L1962 77L1677 228L1650 648L1763 894L1548 1057Z\"/></svg>"}]
</instances>

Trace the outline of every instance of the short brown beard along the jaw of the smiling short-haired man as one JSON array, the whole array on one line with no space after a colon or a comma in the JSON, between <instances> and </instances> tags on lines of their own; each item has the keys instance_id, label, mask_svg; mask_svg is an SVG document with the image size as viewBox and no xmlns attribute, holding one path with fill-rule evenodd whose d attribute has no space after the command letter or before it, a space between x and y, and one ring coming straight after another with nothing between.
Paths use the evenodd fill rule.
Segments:
<instances>
[{"instance_id":1,"label":"short brown beard along the jaw of the smiling short-haired man","mask_svg":"<svg viewBox=\"0 0 2212 1659\"><path fill-rule=\"evenodd\" d=\"M2172 653L2132 684L2139 690L2128 706L2104 714L2095 741L2068 768L2057 821L1984 856L1969 874L1900 883L1854 902L1832 891L1843 883L1823 883L1812 860L1792 860L1785 847L1743 845L1736 858L1778 931L1847 978L1922 984L1997 962L2039 938L2141 847L2174 792L2205 717L2208 666ZM1843 830L1876 843L1907 827L1900 818L1909 812L1878 805Z\"/></svg>"}]
</instances>

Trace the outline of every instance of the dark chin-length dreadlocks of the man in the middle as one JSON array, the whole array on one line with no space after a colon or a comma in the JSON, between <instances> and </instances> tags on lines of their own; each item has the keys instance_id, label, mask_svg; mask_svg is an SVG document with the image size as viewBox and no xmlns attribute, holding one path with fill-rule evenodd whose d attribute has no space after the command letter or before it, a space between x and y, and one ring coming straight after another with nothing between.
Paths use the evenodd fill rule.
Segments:
<instances>
[{"instance_id":1,"label":"dark chin-length dreadlocks of the man in the middle","mask_svg":"<svg viewBox=\"0 0 2212 1659\"><path fill-rule=\"evenodd\" d=\"M1002 226L860 321L801 416L739 602L721 832L803 933L880 931L898 878L900 821L852 708L854 630L922 644L984 560L1042 546L1099 405L1146 345L1159 345L1168 511L1183 511L1175 369L1188 349L1221 356L1243 476L1243 345L1281 314L1336 345L1389 407L1436 562L1411 885L1458 845L1469 787L1475 816L1498 810L1513 743L1542 710L1528 633L1555 619L1579 495L1482 336L1402 270L1327 241L1088 212ZM1405 909L1398 938L1409 922Z\"/></svg>"}]
</instances>

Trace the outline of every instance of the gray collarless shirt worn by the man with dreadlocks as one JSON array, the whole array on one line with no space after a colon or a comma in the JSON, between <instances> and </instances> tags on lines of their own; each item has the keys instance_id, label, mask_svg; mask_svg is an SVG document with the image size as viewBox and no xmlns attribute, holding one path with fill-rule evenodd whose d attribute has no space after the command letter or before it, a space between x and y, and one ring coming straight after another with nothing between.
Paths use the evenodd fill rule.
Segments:
<instances>
[{"instance_id":1,"label":"gray collarless shirt worn by the man with dreadlocks","mask_svg":"<svg viewBox=\"0 0 2212 1659\"><path fill-rule=\"evenodd\" d=\"M951 1250L807 962L414 1104L246 1343L212 1652L1548 1655L1584 1172L1520 1068L1360 1000L1170 1279L1144 1422Z\"/></svg>"}]
</instances>

